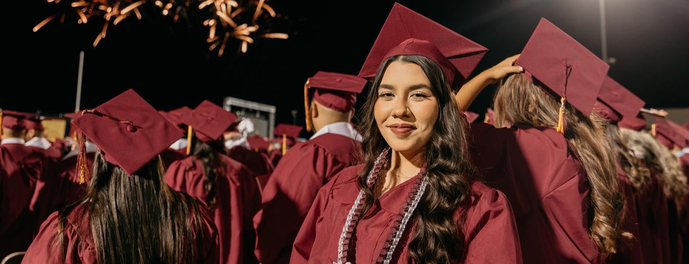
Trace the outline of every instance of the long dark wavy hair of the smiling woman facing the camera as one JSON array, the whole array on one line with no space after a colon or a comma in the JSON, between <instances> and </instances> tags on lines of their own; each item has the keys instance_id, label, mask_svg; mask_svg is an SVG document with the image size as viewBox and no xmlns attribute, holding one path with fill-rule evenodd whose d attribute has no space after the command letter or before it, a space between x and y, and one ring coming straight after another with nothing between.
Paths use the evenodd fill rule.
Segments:
<instances>
[{"instance_id":1,"label":"long dark wavy hair of the smiling woman facing the camera","mask_svg":"<svg viewBox=\"0 0 689 264\"><path fill-rule=\"evenodd\" d=\"M453 91L440 67L431 59L419 55L397 55L383 61L378 68L366 103L360 113L360 130L363 136L364 169L358 175L364 190L362 212L373 204L373 192L366 184L373 162L388 148L383 139L373 108L378 100L378 86L387 66L393 61L419 65L431 82L431 90L438 98L440 114L433 127L433 135L426 144L424 159L428 187L415 212L415 232L409 243L409 261L413 263L453 263L464 259L464 216L457 209L468 205L471 181L476 174L469 159L467 128L469 123L455 102Z\"/></svg>"}]
</instances>

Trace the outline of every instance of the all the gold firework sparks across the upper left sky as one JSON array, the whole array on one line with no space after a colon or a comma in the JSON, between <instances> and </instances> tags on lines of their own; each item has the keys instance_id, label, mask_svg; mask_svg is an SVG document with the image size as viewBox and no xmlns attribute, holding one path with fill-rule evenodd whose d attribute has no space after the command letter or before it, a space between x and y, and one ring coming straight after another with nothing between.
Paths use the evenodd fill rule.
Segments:
<instances>
[{"instance_id":1,"label":"all the gold firework sparks across the upper left sky","mask_svg":"<svg viewBox=\"0 0 689 264\"><path fill-rule=\"evenodd\" d=\"M223 56L228 41L240 41L241 52L247 52L249 44L256 39L288 39L286 33L271 32L270 19L279 16L275 10L265 3L265 0L46 0L48 3L59 5L63 12L53 14L43 19L33 31L41 30L51 21L64 23L65 17L76 19L76 23L85 24L92 21L103 21L103 28L94 39L96 47L106 36L108 28L117 26L124 19L142 18L142 8L145 10L159 9L163 16L171 16L172 21L178 21L181 13L191 12L192 6L197 7L200 14L205 15L203 26L208 29L206 39L209 50ZM198 5L197 5L198 3ZM147 13L147 14L150 14ZM92 22L93 23L93 22ZM260 24L260 26L259 26Z\"/></svg>"}]
</instances>

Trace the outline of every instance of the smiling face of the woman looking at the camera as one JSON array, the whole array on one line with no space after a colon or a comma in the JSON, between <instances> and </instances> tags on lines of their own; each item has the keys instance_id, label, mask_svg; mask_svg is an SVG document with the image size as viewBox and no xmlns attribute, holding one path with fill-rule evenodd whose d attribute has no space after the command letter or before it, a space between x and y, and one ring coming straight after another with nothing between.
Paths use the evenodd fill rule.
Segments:
<instances>
[{"instance_id":1,"label":"smiling face of the woman looking at the camera","mask_svg":"<svg viewBox=\"0 0 689 264\"><path fill-rule=\"evenodd\" d=\"M431 82L419 65L393 61L383 73L373 116L378 130L396 152L422 152L440 106Z\"/></svg>"}]
</instances>

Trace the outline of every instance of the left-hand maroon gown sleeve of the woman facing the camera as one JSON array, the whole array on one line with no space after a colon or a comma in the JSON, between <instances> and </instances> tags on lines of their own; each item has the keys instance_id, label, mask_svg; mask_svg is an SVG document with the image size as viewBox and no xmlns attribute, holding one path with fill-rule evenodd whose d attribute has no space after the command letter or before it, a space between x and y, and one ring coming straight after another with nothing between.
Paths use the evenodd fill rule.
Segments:
<instances>
[{"instance_id":1,"label":"left-hand maroon gown sleeve of the woman facing the camera","mask_svg":"<svg viewBox=\"0 0 689 264\"><path fill-rule=\"evenodd\" d=\"M331 190L338 178L343 176L345 172L347 172L347 170L344 170L338 173L336 176L333 176L333 178L327 184L318 190L316 199L313 201L313 204L311 204L311 209L309 209L309 212L307 213L306 218L304 219L304 222L302 223L299 232L294 239L291 258L289 261L290 264L309 262L311 248L313 248L313 241L316 239L316 230L318 229L318 225L322 223L322 213L325 210L325 207L328 205ZM331 232L336 234L339 234L341 231L342 230L331 230Z\"/></svg>"}]
</instances>

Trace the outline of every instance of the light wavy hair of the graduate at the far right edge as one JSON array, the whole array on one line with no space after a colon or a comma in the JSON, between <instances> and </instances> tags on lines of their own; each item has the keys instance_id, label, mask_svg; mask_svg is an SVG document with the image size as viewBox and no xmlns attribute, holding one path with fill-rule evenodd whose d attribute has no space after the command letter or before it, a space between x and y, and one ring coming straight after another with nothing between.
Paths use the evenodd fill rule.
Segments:
<instances>
[{"instance_id":1,"label":"light wavy hair of the graduate at the far right edge","mask_svg":"<svg viewBox=\"0 0 689 264\"><path fill-rule=\"evenodd\" d=\"M639 159L644 161L650 171L657 176L666 196L674 199L677 205L683 204L685 197L689 194L689 186L687 176L682 172L681 164L677 161L675 154L672 154L648 132L622 128L621 133L630 150L637 154Z\"/></svg>"}]
</instances>

